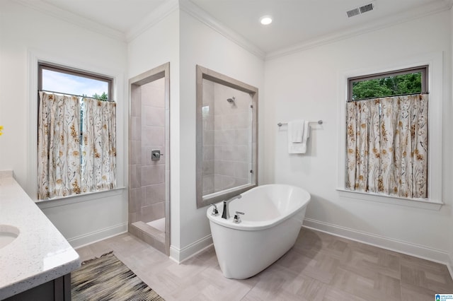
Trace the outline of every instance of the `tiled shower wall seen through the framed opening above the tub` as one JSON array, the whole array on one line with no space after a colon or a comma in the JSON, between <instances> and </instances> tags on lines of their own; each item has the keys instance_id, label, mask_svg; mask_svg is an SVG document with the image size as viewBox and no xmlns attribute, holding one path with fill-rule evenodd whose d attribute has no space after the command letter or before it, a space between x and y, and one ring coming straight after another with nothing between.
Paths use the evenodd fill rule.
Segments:
<instances>
[{"instance_id":1,"label":"tiled shower wall seen through the framed opening above the tub","mask_svg":"<svg viewBox=\"0 0 453 301\"><path fill-rule=\"evenodd\" d=\"M203 194L211 194L251 181L251 96L206 79L202 86Z\"/></svg>"}]
</instances>

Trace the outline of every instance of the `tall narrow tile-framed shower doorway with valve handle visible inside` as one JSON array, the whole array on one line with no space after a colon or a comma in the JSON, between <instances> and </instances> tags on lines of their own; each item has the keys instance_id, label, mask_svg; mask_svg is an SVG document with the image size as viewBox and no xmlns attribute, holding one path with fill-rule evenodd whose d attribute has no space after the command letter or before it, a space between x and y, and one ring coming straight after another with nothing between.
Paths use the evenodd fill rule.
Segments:
<instances>
[{"instance_id":1,"label":"tall narrow tile-framed shower doorway with valve handle visible inside","mask_svg":"<svg viewBox=\"0 0 453 301\"><path fill-rule=\"evenodd\" d=\"M170 252L170 64L131 78L129 232Z\"/></svg>"}]
</instances>

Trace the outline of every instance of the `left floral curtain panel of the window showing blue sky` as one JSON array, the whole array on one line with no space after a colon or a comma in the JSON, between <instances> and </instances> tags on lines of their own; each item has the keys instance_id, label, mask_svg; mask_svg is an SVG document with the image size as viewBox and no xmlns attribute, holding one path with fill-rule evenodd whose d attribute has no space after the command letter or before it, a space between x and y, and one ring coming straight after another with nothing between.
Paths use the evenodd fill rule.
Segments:
<instances>
[{"instance_id":1,"label":"left floral curtain panel of the window showing blue sky","mask_svg":"<svg viewBox=\"0 0 453 301\"><path fill-rule=\"evenodd\" d=\"M38 199L80 194L79 98L40 92Z\"/></svg>"}]
</instances>

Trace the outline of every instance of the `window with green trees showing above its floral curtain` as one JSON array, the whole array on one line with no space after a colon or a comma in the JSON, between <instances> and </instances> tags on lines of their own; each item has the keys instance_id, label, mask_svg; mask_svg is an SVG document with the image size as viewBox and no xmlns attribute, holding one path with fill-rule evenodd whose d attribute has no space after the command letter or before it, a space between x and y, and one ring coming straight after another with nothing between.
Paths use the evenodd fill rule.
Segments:
<instances>
[{"instance_id":1,"label":"window with green trees showing above its floral curtain","mask_svg":"<svg viewBox=\"0 0 453 301\"><path fill-rule=\"evenodd\" d=\"M428 66L348 78L345 187L428 199Z\"/></svg>"}]
</instances>

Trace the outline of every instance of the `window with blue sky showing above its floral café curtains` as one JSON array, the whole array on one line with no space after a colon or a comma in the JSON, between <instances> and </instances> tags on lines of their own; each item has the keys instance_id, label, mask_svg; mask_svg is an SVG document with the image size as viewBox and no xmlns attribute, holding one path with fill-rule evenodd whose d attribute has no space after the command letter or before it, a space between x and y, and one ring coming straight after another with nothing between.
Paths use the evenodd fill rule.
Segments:
<instances>
[{"instance_id":1,"label":"window with blue sky showing above its floral caf\u00e9 curtains","mask_svg":"<svg viewBox=\"0 0 453 301\"><path fill-rule=\"evenodd\" d=\"M38 199L116 187L112 78L38 65Z\"/></svg>"}]
</instances>

